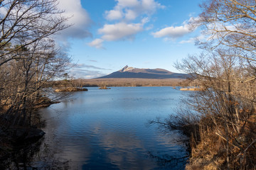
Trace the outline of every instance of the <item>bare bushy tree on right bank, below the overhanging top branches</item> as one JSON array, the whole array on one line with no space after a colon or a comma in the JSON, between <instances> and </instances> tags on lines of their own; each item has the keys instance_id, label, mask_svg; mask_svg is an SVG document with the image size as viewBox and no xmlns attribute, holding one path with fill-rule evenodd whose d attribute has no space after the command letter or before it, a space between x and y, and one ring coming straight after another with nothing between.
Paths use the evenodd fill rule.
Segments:
<instances>
[{"instance_id":1,"label":"bare bushy tree on right bank, below the overhanging top branches","mask_svg":"<svg viewBox=\"0 0 256 170\"><path fill-rule=\"evenodd\" d=\"M198 166L204 169L255 168L256 160L252 155L256 152L256 133L253 130L256 81L250 79L252 74L247 61L236 57L236 53L218 48L198 56L189 56L176 64L178 69L191 74L204 89L194 91L183 101L192 110L188 111L191 113L188 115L200 118L199 128L193 132L197 135L191 135L194 139L191 140L192 157L188 169ZM173 120L171 125L175 122ZM217 143L221 147L216 147ZM201 165L198 164L199 159Z\"/></svg>"}]
</instances>

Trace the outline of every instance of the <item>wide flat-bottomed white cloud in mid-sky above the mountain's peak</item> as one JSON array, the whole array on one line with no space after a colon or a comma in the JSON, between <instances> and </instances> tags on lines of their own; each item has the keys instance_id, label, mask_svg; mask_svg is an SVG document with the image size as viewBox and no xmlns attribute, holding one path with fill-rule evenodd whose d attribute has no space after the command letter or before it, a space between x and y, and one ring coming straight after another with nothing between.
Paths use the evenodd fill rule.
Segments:
<instances>
[{"instance_id":1,"label":"wide flat-bottomed white cloud in mid-sky above the mountain's peak","mask_svg":"<svg viewBox=\"0 0 256 170\"><path fill-rule=\"evenodd\" d=\"M132 40L134 35L143 30L143 23L116 23L105 24L98 32L102 35L103 40Z\"/></svg>"}]
</instances>

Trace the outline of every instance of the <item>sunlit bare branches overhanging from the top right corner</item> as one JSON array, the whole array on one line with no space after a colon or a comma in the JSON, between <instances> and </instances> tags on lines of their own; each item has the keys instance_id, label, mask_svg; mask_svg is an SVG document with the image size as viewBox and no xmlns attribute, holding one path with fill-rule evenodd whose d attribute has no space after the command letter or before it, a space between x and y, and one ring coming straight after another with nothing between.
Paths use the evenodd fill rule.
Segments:
<instances>
[{"instance_id":1,"label":"sunlit bare branches overhanging from the top right corner","mask_svg":"<svg viewBox=\"0 0 256 170\"><path fill-rule=\"evenodd\" d=\"M233 57L247 60L256 70L256 2L254 0L210 0L201 4L203 12L191 26L201 26L206 40L198 42L207 50L229 48ZM246 81L246 80L245 80ZM248 80L250 81L250 80Z\"/></svg>"}]
</instances>

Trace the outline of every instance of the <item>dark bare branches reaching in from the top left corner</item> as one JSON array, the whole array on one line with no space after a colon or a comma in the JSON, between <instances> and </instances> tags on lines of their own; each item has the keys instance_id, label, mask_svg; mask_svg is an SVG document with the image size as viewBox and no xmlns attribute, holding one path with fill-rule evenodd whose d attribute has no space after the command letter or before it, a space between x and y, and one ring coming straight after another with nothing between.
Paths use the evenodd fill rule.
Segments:
<instances>
[{"instance_id":1,"label":"dark bare branches reaching in from the top left corner","mask_svg":"<svg viewBox=\"0 0 256 170\"><path fill-rule=\"evenodd\" d=\"M0 67L21 58L18 50L68 27L68 18L61 15L57 5L57 0L1 1Z\"/></svg>"}]
</instances>

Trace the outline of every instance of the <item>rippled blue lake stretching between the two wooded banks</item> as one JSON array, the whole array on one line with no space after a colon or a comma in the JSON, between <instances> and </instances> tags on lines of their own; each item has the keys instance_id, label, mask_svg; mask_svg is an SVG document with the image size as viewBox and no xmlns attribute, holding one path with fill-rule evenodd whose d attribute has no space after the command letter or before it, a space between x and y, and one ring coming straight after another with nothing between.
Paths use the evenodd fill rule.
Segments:
<instances>
[{"instance_id":1,"label":"rippled blue lake stretching between the two wooded banks","mask_svg":"<svg viewBox=\"0 0 256 170\"><path fill-rule=\"evenodd\" d=\"M184 169L179 135L149 120L174 114L184 92L172 87L112 87L75 92L41 109L46 132L34 167L59 169Z\"/></svg>"}]
</instances>

